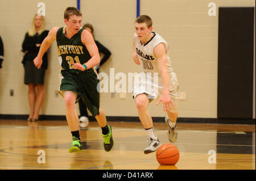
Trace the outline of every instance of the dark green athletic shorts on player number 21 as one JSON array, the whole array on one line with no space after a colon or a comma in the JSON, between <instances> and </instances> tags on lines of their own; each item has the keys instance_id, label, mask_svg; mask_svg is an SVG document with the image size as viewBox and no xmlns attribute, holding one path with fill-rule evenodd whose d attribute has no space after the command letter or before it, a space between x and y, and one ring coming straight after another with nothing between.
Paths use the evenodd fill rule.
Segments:
<instances>
[{"instance_id":1,"label":"dark green athletic shorts on player number 21","mask_svg":"<svg viewBox=\"0 0 256 181\"><path fill-rule=\"evenodd\" d=\"M97 91L99 80L94 69L82 71L81 73L71 73L67 70L60 71L59 93L64 97L64 91L77 93L76 103L82 98L92 116L99 115L100 93Z\"/></svg>"}]
</instances>

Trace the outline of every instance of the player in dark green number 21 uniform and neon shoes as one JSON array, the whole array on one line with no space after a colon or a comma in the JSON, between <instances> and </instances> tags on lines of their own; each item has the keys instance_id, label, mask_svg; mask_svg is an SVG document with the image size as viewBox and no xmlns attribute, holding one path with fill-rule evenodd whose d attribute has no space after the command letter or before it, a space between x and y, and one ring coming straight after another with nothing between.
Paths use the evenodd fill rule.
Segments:
<instances>
[{"instance_id":1,"label":"player in dark green number 21 uniform and neon shoes","mask_svg":"<svg viewBox=\"0 0 256 181\"><path fill-rule=\"evenodd\" d=\"M112 128L107 124L104 111L100 108L100 95L97 91L97 74L93 67L100 64L97 45L90 32L81 28L82 14L76 7L68 7L64 12L66 27L54 27L44 39L38 56L34 60L40 69L42 56L49 45L57 41L57 53L61 65L60 89L66 106L66 117L72 133L73 142L69 152L82 149L79 134L79 117L75 103L81 98L102 129L104 149L110 151L114 141Z\"/></svg>"}]
</instances>

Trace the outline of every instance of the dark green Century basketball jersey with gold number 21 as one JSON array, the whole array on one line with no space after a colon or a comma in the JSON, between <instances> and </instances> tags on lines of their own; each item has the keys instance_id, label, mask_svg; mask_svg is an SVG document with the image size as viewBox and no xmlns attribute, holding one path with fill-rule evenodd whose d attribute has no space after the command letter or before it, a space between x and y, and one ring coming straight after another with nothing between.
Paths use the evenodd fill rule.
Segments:
<instances>
[{"instance_id":1,"label":"dark green Century basketball jersey with gold number 21","mask_svg":"<svg viewBox=\"0 0 256 181\"><path fill-rule=\"evenodd\" d=\"M71 39L65 36L65 27L59 28L56 35L57 53L59 62L62 67L72 73L79 73L81 70L75 69L73 64L84 64L90 60L91 56L81 41L81 33L84 28L81 28Z\"/></svg>"}]
</instances>

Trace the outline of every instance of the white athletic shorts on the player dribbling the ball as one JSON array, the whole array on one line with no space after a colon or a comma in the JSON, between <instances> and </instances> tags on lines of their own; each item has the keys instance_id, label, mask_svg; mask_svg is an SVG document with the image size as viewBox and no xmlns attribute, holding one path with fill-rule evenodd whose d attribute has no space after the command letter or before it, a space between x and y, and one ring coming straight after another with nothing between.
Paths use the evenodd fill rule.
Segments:
<instances>
[{"instance_id":1,"label":"white athletic shorts on the player dribbling the ball","mask_svg":"<svg viewBox=\"0 0 256 181\"><path fill-rule=\"evenodd\" d=\"M169 95L175 107L171 104L171 112L177 112L179 107L179 82L175 73L171 73L170 79L170 91ZM158 82L159 81L159 82ZM152 102L154 99L159 99L163 93L162 79L158 80L158 77L152 78L151 74L139 73L134 77L133 85L133 98L135 99L138 94L147 94L148 99Z\"/></svg>"}]
</instances>

